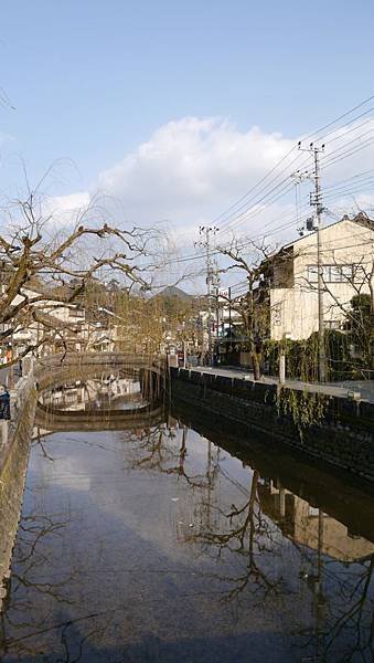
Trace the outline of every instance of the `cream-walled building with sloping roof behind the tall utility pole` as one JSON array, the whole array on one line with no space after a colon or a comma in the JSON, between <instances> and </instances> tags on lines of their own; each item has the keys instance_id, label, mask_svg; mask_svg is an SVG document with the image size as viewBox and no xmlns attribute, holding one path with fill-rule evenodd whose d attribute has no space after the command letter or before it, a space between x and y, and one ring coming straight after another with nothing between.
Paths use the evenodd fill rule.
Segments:
<instances>
[{"instance_id":1,"label":"cream-walled building with sloping roof behind the tall utility pole","mask_svg":"<svg viewBox=\"0 0 374 663\"><path fill-rule=\"evenodd\" d=\"M365 214L320 230L324 328L339 329L356 294L373 292L374 222ZM317 232L286 244L268 262L270 337L318 330Z\"/></svg>"}]
</instances>

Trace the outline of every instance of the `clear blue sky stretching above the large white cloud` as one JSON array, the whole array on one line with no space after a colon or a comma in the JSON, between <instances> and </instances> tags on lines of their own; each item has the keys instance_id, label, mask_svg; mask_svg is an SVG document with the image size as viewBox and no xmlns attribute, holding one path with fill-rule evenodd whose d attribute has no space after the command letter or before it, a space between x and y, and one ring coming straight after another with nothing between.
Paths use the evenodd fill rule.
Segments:
<instances>
[{"instance_id":1,"label":"clear blue sky stretching above the large white cloud","mask_svg":"<svg viewBox=\"0 0 374 663\"><path fill-rule=\"evenodd\" d=\"M157 156L152 137L168 123L214 117L228 122L236 137L258 126L263 137L277 131L295 140L374 91L372 0L2 0L0 25L0 85L15 107L0 106L1 192L19 181L18 158L31 182L55 159L72 159L77 170L57 182L55 193L93 191L111 186L111 175L103 173L140 146ZM182 150L185 126L175 129L179 138L183 134ZM226 159L222 147L217 155ZM168 164L174 168L169 159L158 169L163 178ZM129 168L128 161L125 173L117 168L116 186L109 186L125 207L119 180ZM131 182L142 168L142 161L132 164ZM248 169L247 178L243 168L233 176L237 186L222 186L221 173L213 213L250 183L254 173ZM137 182L132 190L148 187L147 178ZM205 192L215 197L211 181ZM191 223L210 214L206 200L196 213L199 196ZM183 221L183 196L172 208L159 202L149 202L154 218ZM129 210L136 220L133 197ZM139 215L147 215L141 204Z\"/></svg>"}]
</instances>

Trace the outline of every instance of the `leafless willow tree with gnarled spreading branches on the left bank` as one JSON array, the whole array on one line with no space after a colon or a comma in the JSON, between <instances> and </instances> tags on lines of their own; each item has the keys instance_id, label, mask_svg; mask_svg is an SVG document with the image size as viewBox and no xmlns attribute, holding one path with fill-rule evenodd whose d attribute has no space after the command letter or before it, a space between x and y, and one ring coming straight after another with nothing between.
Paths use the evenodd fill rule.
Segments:
<instances>
[{"instance_id":1,"label":"leafless willow tree with gnarled spreading branches on the left bank","mask_svg":"<svg viewBox=\"0 0 374 663\"><path fill-rule=\"evenodd\" d=\"M2 210L0 341L38 327L12 362L56 337L63 343L72 325L54 312L78 302L93 281L116 275L127 292L150 287L161 264L160 231L108 224L105 217L94 201L61 228L34 192Z\"/></svg>"}]
</instances>

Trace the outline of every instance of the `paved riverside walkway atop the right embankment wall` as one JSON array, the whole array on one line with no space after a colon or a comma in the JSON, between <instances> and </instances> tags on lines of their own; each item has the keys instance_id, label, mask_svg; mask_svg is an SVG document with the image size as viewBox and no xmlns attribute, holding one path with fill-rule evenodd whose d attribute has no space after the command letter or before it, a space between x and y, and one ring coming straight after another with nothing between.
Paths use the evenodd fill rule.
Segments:
<instances>
[{"instance_id":1,"label":"paved riverside walkway atop the right embankment wall","mask_svg":"<svg viewBox=\"0 0 374 663\"><path fill-rule=\"evenodd\" d=\"M239 367L210 367L210 366L195 366L188 367L189 370L216 375L226 376L231 378L248 379L254 380L254 373L252 370L239 368ZM261 376L259 382L265 385L278 385L278 378L274 376ZM349 398L352 392L355 394L360 393L360 397L355 397L360 400L367 400L374 403L374 380L352 380L346 382L302 382L301 380L286 379L284 387L288 389L297 389L299 391L310 391L312 393L325 393L328 396L336 396L340 398Z\"/></svg>"}]
</instances>

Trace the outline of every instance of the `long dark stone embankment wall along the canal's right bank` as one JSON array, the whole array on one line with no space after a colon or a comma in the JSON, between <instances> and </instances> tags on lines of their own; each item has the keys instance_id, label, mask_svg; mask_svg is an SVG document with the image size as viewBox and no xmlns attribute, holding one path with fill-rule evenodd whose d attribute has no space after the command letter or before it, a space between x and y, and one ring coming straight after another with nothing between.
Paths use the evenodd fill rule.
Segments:
<instances>
[{"instance_id":1,"label":"long dark stone embankment wall along the canal's right bank","mask_svg":"<svg viewBox=\"0 0 374 663\"><path fill-rule=\"evenodd\" d=\"M261 382L170 369L173 402L265 433L374 484L374 406Z\"/></svg>"}]
</instances>

